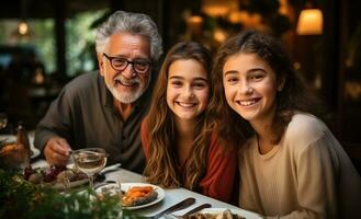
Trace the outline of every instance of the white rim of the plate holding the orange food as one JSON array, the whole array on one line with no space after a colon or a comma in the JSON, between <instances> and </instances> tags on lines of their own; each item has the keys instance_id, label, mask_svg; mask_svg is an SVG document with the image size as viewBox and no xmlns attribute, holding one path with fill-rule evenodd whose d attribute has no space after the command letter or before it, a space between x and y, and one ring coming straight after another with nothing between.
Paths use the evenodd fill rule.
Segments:
<instances>
[{"instance_id":1,"label":"white rim of the plate holding the orange food","mask_svg":"<svg viewBox=\"0 0 361 219\"><path fill-rule=\"evenodd\" d=\"M111 187L111 186L113 186L113 184L106 184L106 185L100 186L100 187L95 188L95 192L97 193L100 193L101 192L101 188L103 188L103 187ZM139 205L139 206L124 207L124 209L135 210L135 209L146 208L148 206L153 206L153 205L161 201L166 197L166 193L165 193L165 191L161 187L159 187L157 185L148 184L148 183L122 183L122 191L125 191L126 192L131 187L134 187L134 186L151 186L158 193L158 196L151 203L148 203L148 204L145 204L145 205Z\"/></svg>"}]
</instances>

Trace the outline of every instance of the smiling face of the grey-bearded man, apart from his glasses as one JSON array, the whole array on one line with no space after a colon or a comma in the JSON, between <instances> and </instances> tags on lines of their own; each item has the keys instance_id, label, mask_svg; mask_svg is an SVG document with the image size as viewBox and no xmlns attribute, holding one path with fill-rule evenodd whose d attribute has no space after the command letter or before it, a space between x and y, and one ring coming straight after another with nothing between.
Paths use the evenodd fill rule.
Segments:
<instances>
[{"instance_id":1,"label":"smiling face of the grey-bearded man, apart from his glasses","mask_svg":"<svg viewBox=\"0 0 361 219\"><path fill-rule=\"evenodd\" d=\"M129 61L149 60L150 45L144 36L124 32L116 33L109 38L104 54ZM98 55L98 60L108 89L121 103L133 103L146 91L150 81L150 69L148 72L139 74L134 71L133 65L128 65L123 71L116 71L103 54Z\"/></svg>"}]
</instances>

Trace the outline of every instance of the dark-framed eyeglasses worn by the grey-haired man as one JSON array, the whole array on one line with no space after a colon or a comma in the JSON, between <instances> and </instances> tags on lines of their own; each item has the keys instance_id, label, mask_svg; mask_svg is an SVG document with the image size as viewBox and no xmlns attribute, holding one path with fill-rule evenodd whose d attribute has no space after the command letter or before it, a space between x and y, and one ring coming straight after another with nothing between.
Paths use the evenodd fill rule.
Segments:
<instances>
[{"instance_id":1,"label":"dark-framed eyeglasses worn by the grey-haired man","mask_svg":"<svg viewBox=\"0 0 361 219\"><path fill-rule=\"evenodd\" d=\"M132 64L134 71L142 74L147 73L151 66L150 61L144 59L131 61L122 57L111 57L106 54L103 54L103 56L110 60L112 68L116 71L123 71L129 64Z\"/></svg>"}]
</instances>

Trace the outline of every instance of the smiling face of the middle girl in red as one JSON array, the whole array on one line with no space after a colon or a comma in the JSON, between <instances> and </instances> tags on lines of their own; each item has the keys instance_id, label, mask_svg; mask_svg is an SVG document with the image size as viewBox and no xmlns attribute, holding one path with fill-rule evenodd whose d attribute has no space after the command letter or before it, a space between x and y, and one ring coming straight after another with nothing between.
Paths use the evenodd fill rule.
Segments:
<instances>
[{"instance_id":1,"label":"smiling face of the middle girl in red","mask_svg":"<svg viewBox=\"0 0 361 219\"><path fill-rule=\"evenodd\" d=\"M194 59L179 59L168 70L167 104L176 119L194 120L208 103L208 78Z\"/></svg>"}]
</instances>

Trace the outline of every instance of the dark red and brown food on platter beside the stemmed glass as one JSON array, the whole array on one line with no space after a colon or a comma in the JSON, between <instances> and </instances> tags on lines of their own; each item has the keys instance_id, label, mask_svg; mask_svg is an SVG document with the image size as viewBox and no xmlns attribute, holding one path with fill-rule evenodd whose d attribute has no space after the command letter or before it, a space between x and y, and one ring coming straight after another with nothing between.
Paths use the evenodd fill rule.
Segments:
<instances>
[{"instance_id":1,"label":"dark red and brown food on platter beside the stemmed glass","mask_svg":"<svg viewBox=\"0 0 361 219\"><path fill-rule=\"evenodd\" d=\"M87 174L77 169L67 169L65 165L52 165L49 168L26 168L24 178L33 184L57 184L66 181L75 182L88 178Z\"/></svg>"}]
</instances>

